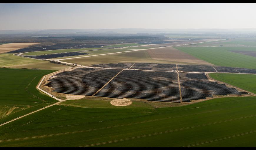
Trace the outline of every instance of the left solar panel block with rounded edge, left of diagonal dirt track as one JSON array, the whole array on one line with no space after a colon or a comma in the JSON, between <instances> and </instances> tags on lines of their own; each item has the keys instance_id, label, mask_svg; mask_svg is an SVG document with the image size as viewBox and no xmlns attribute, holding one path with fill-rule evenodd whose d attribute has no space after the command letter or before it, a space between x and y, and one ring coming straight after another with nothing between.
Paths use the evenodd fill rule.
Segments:
<instances>
[{"instance_id":1,"label":"left solar panel block with rounded edge, left of diagonal dirt track","mask_svg":"<svg viewBox=\"0 0 256 150\"><path fill-rule=\"evenodd\" d=\"M54 88L54 92L92 96L118 72L118 69L77 68L56 74L46 86Z\"/></svg>"}]
</instances>

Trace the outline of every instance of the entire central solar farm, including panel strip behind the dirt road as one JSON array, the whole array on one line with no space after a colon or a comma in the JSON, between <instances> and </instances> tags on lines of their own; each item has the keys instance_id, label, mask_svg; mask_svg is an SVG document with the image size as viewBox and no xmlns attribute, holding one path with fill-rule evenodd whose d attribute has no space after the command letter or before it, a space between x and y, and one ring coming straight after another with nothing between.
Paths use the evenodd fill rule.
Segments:
<instances>
[{"instance_id":1,"label":"entire central solar farm, including panel strip behind the dirt road","mask_svg":"<svg viewBox=\"0 0 256 150\"><path fill-rule=\"evenodd\" d=\"M58 73L44 86L62 94L183 103L217 96L249 94L209 80L206 74L234 71L256 73L256 69L207 65L95 64Z\"/></svg>"}]
</instances>

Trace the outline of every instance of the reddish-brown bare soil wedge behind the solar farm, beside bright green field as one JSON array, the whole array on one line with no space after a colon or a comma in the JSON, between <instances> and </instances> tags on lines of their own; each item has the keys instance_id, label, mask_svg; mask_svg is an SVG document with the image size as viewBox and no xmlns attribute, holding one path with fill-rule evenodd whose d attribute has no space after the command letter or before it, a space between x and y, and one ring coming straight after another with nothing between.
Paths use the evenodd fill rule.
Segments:
<instances>
[{"instance_id":1,"label":"reddish-brown bare soil wedge behind the solar farm, beside bright green field","mask_svg":"<svg viewBox=\"0 0 256 150\"><path fill-rule=\"evenodd\" d=\"M213 65L201 59L197 59L194 56L191 56L187 53L179 51L174 47L166 47L161 49L149 49L147 50L147 52L149 56L155 60L166 60L166 61L193 63L193 64Z\"/></svg>"}]
</instances>

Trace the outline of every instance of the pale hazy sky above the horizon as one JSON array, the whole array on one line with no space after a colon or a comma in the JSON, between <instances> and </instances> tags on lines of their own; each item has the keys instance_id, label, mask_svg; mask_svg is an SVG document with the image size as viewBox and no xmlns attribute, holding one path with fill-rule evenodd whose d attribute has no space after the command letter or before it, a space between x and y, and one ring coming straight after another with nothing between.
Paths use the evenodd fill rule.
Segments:
<instances>
[{"instance_id":1,"label":"pale hazy sky above the horizon","mask_svg":"<svg viewBox=\"0 0 256 150\"><path fill-rule=\"evenodd\" d=\"M256 28L256 4L0 4L0 30Z\"/></svg>"}]
</instances>

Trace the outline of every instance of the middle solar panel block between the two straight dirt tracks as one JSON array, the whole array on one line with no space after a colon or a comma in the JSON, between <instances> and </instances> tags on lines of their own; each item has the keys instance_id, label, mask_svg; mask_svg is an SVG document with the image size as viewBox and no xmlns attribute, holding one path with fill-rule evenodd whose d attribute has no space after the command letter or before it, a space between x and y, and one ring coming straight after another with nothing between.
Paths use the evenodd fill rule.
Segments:
<instances>
[{"instance_id":1,"label":"middle solar panel block between the two straight dirt tracks","mask_svg":"<svg viewBox=\"0 0 256 150\"><path fill-rule=\"evenodd\" d=\"M180 102L177 74L124 70L95 96Z\"/></svg>"}]
</instances>

